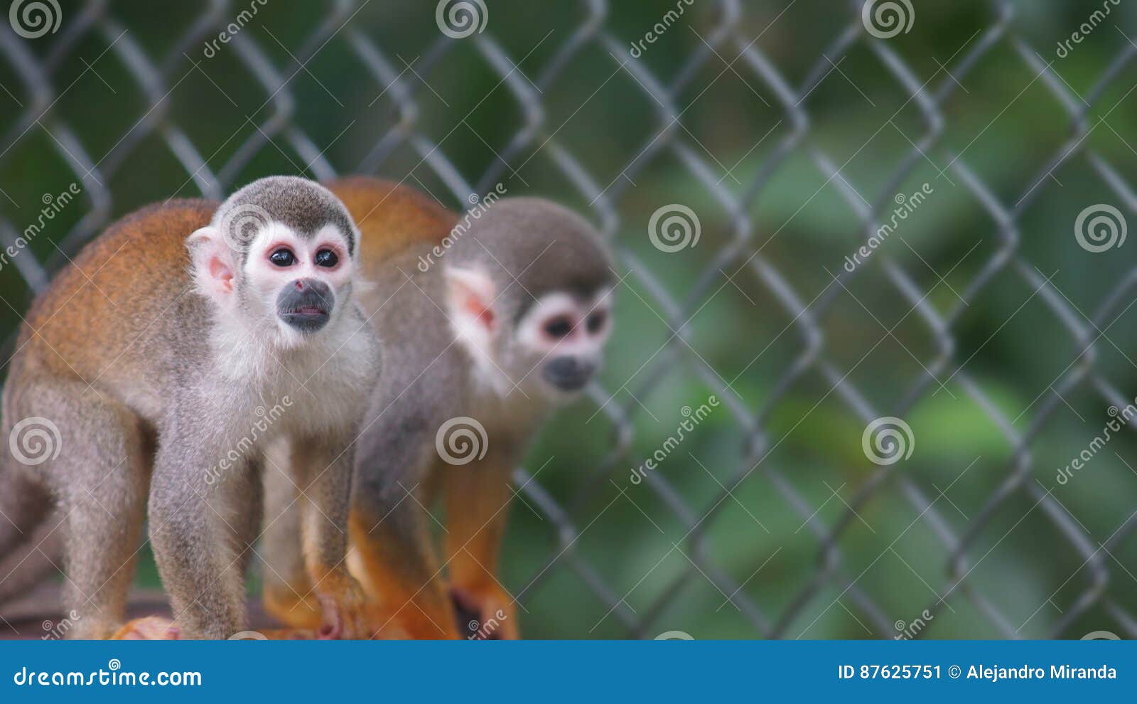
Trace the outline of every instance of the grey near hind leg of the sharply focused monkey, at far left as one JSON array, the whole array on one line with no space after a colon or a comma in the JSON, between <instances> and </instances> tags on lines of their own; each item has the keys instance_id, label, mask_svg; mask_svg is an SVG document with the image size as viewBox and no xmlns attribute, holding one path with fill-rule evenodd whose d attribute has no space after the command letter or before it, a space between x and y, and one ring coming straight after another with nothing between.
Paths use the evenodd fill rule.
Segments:
<instances>
[{"instance_id":1,"label":"grey near hind leg of the sharply focused monkey, at far left","mask_svg":"<svg viewBox=\"0 0 1137 704\"><path fill-rule=\"evenodd\" d=\"M65 557L64 608L74 611L68 638L106 638L126 611L146 511L148 457L139 419L80 382L27 382L13 398L18 417L58 428L58 455L31 467L59 503Z\"/></svg>"}]
</instances>

